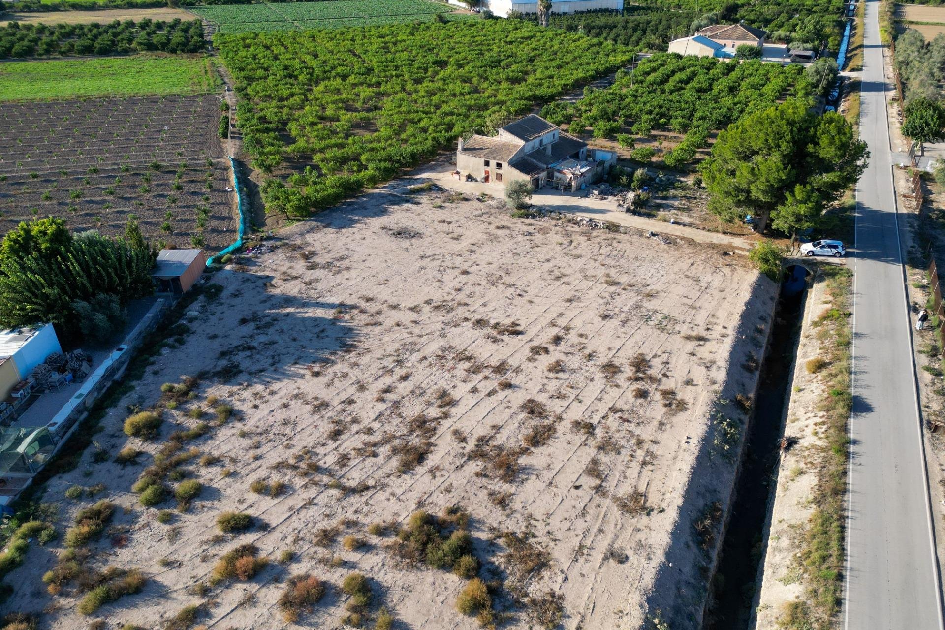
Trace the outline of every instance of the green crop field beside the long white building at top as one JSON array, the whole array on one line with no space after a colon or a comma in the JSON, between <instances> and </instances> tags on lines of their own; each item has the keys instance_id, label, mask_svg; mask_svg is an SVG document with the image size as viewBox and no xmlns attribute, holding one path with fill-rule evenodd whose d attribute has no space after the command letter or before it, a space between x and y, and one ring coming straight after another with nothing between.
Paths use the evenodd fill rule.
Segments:
<instances>
[{"instance_id":1,"label":"green crop field beside the long white building at top","mask_svg":"<svg viewBox=\"0 0 945 630\"><path fill-rule=\"evenodd\" d=\"M265 5L218 5L191 9L220 26L223 33L346 26L381 26L408 22L433 22L438 14L447 19L453 9L430 0L335 0Z\"/></svg>"}]
</instances>

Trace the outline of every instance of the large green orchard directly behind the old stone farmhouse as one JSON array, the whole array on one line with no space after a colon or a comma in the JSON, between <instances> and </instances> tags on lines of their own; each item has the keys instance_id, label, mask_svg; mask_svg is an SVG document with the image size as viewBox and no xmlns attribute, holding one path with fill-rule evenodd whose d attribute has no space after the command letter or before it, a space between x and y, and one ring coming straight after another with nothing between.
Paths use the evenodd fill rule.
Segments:
<instances>
[{"instance_id":1,"label":"large green orchard directly behind the old stone farmhouse","mask_svg":"<svg viewBox=\"0 0 945 630\"><path fill-rule=\"evenodd\" d=\"M238 125L253 165L295 169L262 187L267 211L288 216L334 205L631 59L612 43L521 20L217 35L215 43L242 98Z\"/></svg>"}]
</instances>

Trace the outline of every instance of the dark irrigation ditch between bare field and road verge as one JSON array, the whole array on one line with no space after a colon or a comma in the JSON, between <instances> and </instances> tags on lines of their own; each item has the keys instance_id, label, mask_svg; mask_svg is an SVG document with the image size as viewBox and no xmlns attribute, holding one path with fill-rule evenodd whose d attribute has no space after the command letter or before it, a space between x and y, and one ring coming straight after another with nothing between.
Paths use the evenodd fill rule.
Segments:
<instances>
[{"instance_id":1,"label":"dark irrigation ditch between bare field and road verge","mask_svg":"<svg viewBox=\"0 0 945 630\"><path fill-rule=\"evenodd\" d=\"M703 630L746 630L758 570L765 557L762 535L769 502L778 485L777 464L784 434L784 403L798 347L808 271L792 265L784 273L770 345L762 367L747 445L735 488L729 526L713 583L714 602Z\"/></svg>"}]
</instances>

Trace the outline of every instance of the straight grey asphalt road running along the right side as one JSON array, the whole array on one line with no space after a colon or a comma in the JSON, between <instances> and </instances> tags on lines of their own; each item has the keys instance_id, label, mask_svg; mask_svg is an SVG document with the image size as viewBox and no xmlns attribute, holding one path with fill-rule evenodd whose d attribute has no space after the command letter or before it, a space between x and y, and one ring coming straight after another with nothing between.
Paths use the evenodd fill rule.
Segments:
<instances>
[{"instance_id":1,"label":"straight grey asphalt road running along the right side","mask_svg":"<svg viewBox=\"0 0 945 630\"><path fill-rule=\"evenodd\" d=\"M942 628L938 568L886 127L879 3L868 0L856 190L853 414L844 627Z\"/></svg>"}]
</instances>

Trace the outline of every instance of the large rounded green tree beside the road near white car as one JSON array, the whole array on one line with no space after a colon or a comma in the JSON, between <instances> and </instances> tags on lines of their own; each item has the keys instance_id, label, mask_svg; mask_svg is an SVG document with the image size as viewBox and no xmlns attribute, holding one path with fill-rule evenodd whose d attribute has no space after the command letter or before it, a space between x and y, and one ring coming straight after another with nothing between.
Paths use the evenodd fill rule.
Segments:
<instances>
[{"instance_id":1,"label":"large rounded green tree beside the road near white car","mask_svg":"<svg viewBox=\"0 0 945 630\"><path fill-rule=\"evenodd\" d=\"M807 99L747 114L718 135L702 163L709 208L725 221L750 213L755 229L815 228L859 179L867 145L836 112L817 114Z\"/></svg>"}]
</instances>

